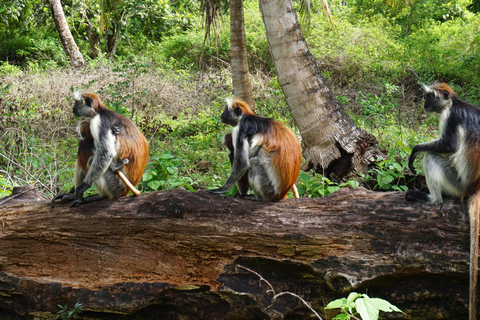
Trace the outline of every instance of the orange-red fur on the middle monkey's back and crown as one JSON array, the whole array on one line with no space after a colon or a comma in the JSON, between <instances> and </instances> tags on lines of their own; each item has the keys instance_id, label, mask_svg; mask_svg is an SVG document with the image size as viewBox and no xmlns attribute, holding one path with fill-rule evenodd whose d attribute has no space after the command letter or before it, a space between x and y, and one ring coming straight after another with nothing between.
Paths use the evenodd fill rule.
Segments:
<instances>
[{"instance_id":1,"label":"orange-red fur on the middle monkey's back and crown","mask_svg":"<svg viewBox=\"0 0 480 320\"><path fill-rule=\"evenodd\" d=\"M244 115L256 116L250 106L238 98L232 100L232 109L235 108L240 108ZM294 188L302 162L302 151L297 136L284 124L271 120L270 129L263 136L262 148L273 158L273 166L280 178L282 190L278 198L274 197L268 201L286 199L288 191Z\"/></svg>"}]
</instances>

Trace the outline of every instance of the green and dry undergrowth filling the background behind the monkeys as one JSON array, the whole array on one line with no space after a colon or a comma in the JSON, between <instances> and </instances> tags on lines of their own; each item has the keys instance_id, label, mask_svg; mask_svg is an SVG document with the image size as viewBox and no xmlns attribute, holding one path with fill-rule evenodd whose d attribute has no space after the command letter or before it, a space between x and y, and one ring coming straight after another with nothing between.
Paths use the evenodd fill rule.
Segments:
<instances>
[{"instance_id":1,"label":"green and dry undergrowth filling the background behind the monkeys","mask_svg":"<svg viewBox=\"0 0 480 320\"><path fill-rule=\"evenodd\" d=\"M72 186L74 88L98 92L145 133L151 157L140 186L144 191L220 185L230 168L221 145L229 128L219 119L225 97L232 94L228 7L219 8L203 49L202 2L115 2L110 18L120 26L120 41L109 56L105 41L111 30L100 19L99 2L62 3L88 63L81 71L69 69L48 2L0 4L0 197L14 185L35 184L49 197ZM339 101L358 126L377 137L389 158L358 181L338 183L302 172L301 195L323 196L359 184L405 190L418 182L405 168L410 149L435 137L438 123L423 111L412 70L421 81L446 81L461 97L480 104L476 4L352 0L330 5L334 27L314 8L310 27L304 28L307 42ZM245 1L245 19L257 112L294 128L257 1ZM89 42L91 32L100 40L99 54Z\"/></svg>"}]
</instances>

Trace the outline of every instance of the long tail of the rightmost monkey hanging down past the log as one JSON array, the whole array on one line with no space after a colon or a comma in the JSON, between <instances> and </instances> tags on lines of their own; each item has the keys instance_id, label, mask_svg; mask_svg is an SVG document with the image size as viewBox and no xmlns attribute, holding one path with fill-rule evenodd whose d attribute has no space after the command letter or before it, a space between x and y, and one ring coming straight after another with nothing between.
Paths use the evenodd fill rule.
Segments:
<instances>
[{"instance_id":1,"label":"long tail of the rightmost monkey hanging down past the log","mask_svg":"<svg viewBox=\"0 0 480 320\"><path fill-rule=\"evenodd\" d=\"M477 319L477 280L478 280L478 233L480 231L480 194L470 197L468 206L470 216L470 300L469 320Z\"/></svg>"}]
</instances>

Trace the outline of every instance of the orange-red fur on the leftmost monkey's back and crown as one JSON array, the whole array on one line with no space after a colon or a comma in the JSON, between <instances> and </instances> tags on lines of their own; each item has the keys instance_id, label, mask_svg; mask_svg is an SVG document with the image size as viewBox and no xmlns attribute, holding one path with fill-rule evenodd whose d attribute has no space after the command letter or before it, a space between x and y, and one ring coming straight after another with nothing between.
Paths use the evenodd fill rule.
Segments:
<instances>
[{"instance_id":1,"label":"orange-red fur on the leftmost monkey's back and crown","mask_svg":"<svg viewBox=\"0 0 480 320\"><path fill-rule=\"evenodd\" d=\"M84 98L88 97L92 99L92 107L97 113L101 113L101 109L110 111L95 93L86 93L82 96ZM122 171L125 172L127 179L135 186L142 179L143 172L147 166L148 142L142 132L130 119L113 112L111 112L111 114L118 118L117 123L113 123L113 125L117 125L120 128L120 134L117 135L118 158L129 160L129 163L124 165ZM91 137L90 132L89 134ZM85 157L86 155L79 155L79 159L82 159L82 163ZM129 191L130 190L127 188L122 196L128 195Z\"/></svg>"}]
</instances>

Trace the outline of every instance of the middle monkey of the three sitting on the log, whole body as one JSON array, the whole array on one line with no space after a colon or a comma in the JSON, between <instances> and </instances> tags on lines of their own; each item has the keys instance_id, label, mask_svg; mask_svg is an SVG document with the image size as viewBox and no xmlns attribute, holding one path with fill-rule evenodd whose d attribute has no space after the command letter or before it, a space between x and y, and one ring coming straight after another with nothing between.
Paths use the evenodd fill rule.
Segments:
<instances>
[{"instance_id":1,"label":"middle monkey of the three sitting on the log, whole body","mask_svg":"<svg viewBox=\"0 0 480 320\"><path fill-rule=\"evenodd\" d=\"M241 196L252 188L256 199L262 201L285 199L290 189L298 198L295 182L302 153L292 130L257 116L237 98L227 100L221 120L234 127L224 138L232 169L224 185L209 192L224 194L237 184Z\"/></svg>"}]
</instances>

